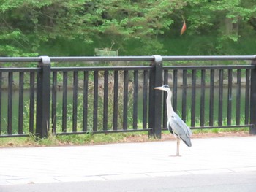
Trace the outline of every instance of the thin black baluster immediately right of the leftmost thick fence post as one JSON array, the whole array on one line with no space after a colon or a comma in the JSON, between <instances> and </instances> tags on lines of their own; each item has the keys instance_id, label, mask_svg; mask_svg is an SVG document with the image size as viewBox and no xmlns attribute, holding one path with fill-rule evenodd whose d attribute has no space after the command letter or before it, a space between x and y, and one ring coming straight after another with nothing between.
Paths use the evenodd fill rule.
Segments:
<instances>
[{"instance_id":1,"label":"thin black baluster immediately right of the leftmost thick fence post","mask_svg":"<svg viewBox=\"0 0 256 192\"><path fill-rule=\"evenodd\" d=\"M52 112L51 123L52 133L56 134L56 113L57 113L57 72L53 72L53 88L52 88Z\"/></svg>"}]
</instances>

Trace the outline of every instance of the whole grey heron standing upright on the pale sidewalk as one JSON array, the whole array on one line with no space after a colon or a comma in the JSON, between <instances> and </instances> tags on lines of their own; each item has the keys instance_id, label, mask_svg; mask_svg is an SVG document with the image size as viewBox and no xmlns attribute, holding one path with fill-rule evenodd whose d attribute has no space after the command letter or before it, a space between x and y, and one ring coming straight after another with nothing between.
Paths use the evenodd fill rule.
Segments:
<instances>
[{"instance_id":1,"label":"whole grey heron standing upright on the pale sidewalk","mask_svg":"<svg viewBox=\"0 0 256 192\"><path fill-rule=\"evenodd\" d=\"M168 85L162 85L162 87L157 87L154 89L162 90L167 92L167 99L166 99L166 106L167 106L167 128L171 134L174 135L177 139L177 151L176 155L179 156L179 145L180 139L184 141L184 143L191 147L191 140L190 137L192 135L192 131L186 125L186 123L177 115L176 112L173 110L171 98L172 98L172 91Z\"/></svg>"}]
</instances>

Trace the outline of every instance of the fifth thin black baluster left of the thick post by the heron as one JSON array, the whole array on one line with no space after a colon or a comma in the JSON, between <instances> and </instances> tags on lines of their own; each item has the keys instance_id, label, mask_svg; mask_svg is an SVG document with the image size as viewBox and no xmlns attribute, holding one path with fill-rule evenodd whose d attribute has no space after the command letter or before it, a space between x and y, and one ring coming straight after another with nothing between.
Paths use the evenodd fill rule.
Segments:
<instances>
[{"instance_id":1,"label":"fifth thin black baluster left of the thick post by the heron","mask_svg":"<svg viewBox=\"0 0 256 192\"><path fill-rule=\"evenodd\" d=\"M108 71L104 73L103 130L108 130Z\"/></svg>"}]
</instances>

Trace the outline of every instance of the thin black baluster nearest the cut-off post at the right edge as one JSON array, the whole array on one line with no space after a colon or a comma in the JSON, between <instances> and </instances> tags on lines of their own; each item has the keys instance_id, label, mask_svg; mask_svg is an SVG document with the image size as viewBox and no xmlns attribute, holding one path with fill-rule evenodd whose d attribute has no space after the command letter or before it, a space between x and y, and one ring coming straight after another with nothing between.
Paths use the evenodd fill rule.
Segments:
<instances>
[{"instance_id":1,"label":"thin black baluster nearest the cut-off post at the right edge","mask_svg":"<svg viewBox=\"0 0 256 192\"><path fill-rule=\"evenodd\" d=\"M249 90L250 90L250 69L245 72L245 106L244 106L244 124L249 124Z\"/></svg>"}]
</instances>

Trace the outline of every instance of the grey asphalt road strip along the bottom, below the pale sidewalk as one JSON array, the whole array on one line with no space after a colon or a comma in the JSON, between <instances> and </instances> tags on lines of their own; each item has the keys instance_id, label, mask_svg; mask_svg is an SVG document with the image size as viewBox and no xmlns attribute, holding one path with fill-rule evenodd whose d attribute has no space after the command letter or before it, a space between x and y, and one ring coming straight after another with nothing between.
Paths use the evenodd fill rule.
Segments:
<instances>
[{"instance_id":1,"label":"grey asphalt road strip along the bottom, below the pale sidewalk","mask_svg":"<svg viewBox=\"0 0 256 192\"><path fill-rule=\"evenodd\" d=\"M256 172L195 174L137 180L103 180L67 183L5 185L3 192L255 192ZM1 191L0 190L0 191Z\"/></svg>"}]
</instances>

